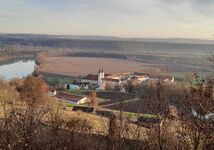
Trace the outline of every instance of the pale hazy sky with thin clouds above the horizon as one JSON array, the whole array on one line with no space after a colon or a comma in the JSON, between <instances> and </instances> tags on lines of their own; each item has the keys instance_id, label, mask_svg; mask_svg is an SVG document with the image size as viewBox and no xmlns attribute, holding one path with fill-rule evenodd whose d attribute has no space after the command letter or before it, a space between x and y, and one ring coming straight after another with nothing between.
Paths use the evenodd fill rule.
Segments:
<instances>
[{"instance_id":1,"label":"pale hazy sky with thin clouds above the horizon","mask_svg":"<svg viewBox=\"0 0 214 150\"><path fill-rule=\"evenodd\" d=\"M214 0L0 0L0 32L214 38Z\"/></svg>"}]
</instances>

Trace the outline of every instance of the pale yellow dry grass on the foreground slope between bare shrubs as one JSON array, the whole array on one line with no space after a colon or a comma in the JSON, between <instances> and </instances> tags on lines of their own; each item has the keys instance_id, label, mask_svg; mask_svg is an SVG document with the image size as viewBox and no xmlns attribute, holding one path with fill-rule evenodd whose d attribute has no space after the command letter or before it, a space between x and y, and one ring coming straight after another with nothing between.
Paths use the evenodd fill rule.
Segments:
<instances>
[{"instance_id":1,"label":"pale yellow dry grass on the foreground slope between bare shrubs","mask_svg":"<svg viewBox=\"0 0 214 150\"><path fill-rule=\"evenodd\" d=\"M59 103L54 103L54 105L59 105ZM13 105L13 108L15 108L14 110L24 110L26 109L25 104L23 103L16 103L15 105ZM70 110L63 110L60 106L56 106L56 108L59 108L59 110L55 110L57 111L57 114L59 116L59 119L63 122L69 122L73 119L76 120L82 120L85 121L87 123L87 125L91 126L91 130L90 130L90 134L93 135L104 135L107 136L108 135L108 128L109 128L109 119L106 117L101 117L98 116L96 114L92 114L92 113L85 113L85 112L81 112L81 111L70 111ZM54 108L54 109L56 109ZM9 107L7 107L7 109L9 109ZM48 111L46 112L46 114L44 114L44 116L41 118L43 123L47 123L49 124L52 121L51 118L51 114L53 113L52 111ZM3 108L2 106L0 106L0 119L4 118L4 114L3 114ZM129 131L126 131L127 133L124 135L127 139L135 139L136 137L136 131L140 129L141 132L141 138L145 138L145 134L147 129L144 127L140 127L132 124L132 123L128 123L126 124L129 127ZM62 128L63 129L63 128ZM83 132L84 133L84 132Z\"/></svg>"}]
</instances>

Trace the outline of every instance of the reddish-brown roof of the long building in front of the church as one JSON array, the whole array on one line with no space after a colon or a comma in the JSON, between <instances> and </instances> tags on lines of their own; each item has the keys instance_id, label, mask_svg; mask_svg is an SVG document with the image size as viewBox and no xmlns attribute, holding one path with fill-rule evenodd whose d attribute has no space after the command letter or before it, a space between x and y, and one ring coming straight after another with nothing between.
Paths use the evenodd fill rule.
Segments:
<instances>
[{"instance_id":1,"label":"reddish-brown roof of the long building in front of the church","mask_svg":"<svg viewBox=\"0 0 214 150\"><path fill-rule=\"evenodd\" d=\"M64 99L71 102L78 102L84 98L83 96L74 95L74 94L65 93L65 92L58 92L56 94L56 97L59 99Z\"/></svg>"}]
</instances>

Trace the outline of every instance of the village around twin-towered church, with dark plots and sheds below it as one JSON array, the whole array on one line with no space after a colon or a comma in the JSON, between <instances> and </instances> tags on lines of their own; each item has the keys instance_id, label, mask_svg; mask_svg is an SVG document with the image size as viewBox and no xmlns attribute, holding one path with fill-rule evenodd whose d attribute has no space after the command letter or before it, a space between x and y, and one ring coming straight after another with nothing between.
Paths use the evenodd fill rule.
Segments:
<instances>
[{"instance_id":1,"label":"village around twin-towered church, with dark plots and sheds below it","mask_svg":"<svg viewBox=\"0 0 214 150\"><path fill-rule=\"evenodd\" d=\"M119 103L121 100L126 102L135 101L138 99L135 87L148 81L156 82L161 80L163 82L174 83L174 77L154 76L143 73L105 73L103 68L98 69L97 74L88 74L73 80L66 80L66 83L55 84L49 86L49 95L55 97L57 101L65 105L66 110L82 111L93 113L96 109L96 114L108 117L112 112L117 113L116 110L106 109L105 106L111 106ZM96 106L92 105L91 93L96 93ZM106 105L107 104L107 105ZM99 109L95 108L99 106ZM146 122L157 123L157 119L152 118L133 118L133 112L126 112L131 114L133 120L141 119ZM146 119L146 120L145 120ZM149 119L149 120L148 120Z\"/></svg>"}]
</instances>

